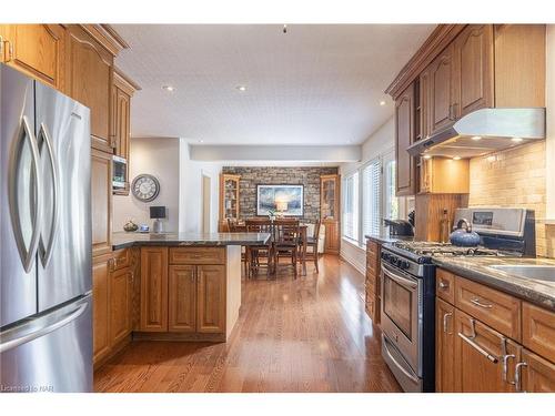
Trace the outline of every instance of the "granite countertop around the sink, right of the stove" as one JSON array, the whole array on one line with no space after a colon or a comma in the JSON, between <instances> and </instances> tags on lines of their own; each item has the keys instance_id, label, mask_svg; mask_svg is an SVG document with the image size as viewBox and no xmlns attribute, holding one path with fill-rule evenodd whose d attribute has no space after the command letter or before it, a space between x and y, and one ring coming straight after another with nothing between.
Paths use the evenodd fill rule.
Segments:
<instances>
[{"instance_id":1,"label":"granite countertop around the sink, right of the stove","mask_svg":"<svg viewBox=\"0 0 555 416\"><path fill-rule=\"evenodd\" d=\"M546 282L522 277L488 266L502 265L549 265L551 258L515 258L515 257L434 257L433 262L442 268L462 277L484 283L503 292L529 301L538 306L555 311L555 282Z\"/></svg>"}]
</instances>

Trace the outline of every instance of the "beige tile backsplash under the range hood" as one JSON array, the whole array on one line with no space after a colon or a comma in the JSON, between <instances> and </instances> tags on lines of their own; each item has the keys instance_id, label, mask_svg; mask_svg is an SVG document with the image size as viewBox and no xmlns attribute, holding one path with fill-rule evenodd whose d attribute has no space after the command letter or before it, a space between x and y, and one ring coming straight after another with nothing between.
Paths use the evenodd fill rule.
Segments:
<instances>
[{"instance_id":1,"label":"beige tile backsplash under the range hood","mask_svg":"<svg viewBox=\"0 0 555 416\"><path fill-rule=\"evenodd\" d=\"M470 206L517 206L545 219L545 141L471 160ZM555 257L555 226L536 222L537 255Z\"/></svg>"}]
</instances>

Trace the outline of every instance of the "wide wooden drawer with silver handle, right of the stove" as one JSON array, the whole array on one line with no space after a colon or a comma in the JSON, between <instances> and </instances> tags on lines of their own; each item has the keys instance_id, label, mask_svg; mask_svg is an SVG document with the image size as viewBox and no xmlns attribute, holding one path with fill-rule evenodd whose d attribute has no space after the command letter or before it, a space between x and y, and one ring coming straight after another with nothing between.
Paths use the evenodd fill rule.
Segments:
<instances>
[{"instance_id":1,"label":"wide wooden drawer with silver handle, right of the stove","mask_svg":"<svg viewBox=\"0 0 555 416\"><path fill-rule=\"evenodd\" d=\"M455 280L455 306L497 329L521 341L521 301L466 278Z\"/></svg>"}]
</instances>

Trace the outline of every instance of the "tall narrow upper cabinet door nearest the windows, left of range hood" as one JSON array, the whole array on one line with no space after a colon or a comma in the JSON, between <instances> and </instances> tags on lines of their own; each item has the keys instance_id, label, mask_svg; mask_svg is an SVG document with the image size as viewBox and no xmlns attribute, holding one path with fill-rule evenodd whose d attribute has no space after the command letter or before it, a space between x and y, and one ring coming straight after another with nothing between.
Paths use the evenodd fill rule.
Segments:
<instances>
[{"instance_id":1,"label":"tall narrow upper cabinet door nearest the windows, left of range hood","mask_svg":"<svg viewBox=\"0 0 555 416\"><path fill-rule=\"evenodd\" d=\"M395 101L396 195L414 194L414 161L406 149L414 138L414 85Z\"/></svg>"}]
</instances>

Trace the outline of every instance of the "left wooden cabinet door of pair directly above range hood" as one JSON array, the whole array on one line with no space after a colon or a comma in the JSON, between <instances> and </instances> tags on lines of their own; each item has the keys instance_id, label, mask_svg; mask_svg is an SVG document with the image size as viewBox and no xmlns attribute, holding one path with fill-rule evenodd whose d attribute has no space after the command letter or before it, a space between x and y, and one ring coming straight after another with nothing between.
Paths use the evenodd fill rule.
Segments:
<instances>
[{"instance_id":1,"label":"left wooden cabinet door of pair directly above range hood","mask_svg":"<svg viewBox=\"0 0 555 416\"><path fill-rule=\"evenodd\" d=\"M450 126L455 121L455 77L454 43L451 43L430 67L430 134Z\"/></svg>"}]
</instances>

